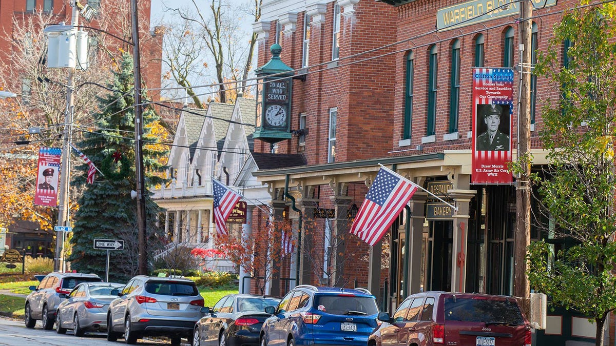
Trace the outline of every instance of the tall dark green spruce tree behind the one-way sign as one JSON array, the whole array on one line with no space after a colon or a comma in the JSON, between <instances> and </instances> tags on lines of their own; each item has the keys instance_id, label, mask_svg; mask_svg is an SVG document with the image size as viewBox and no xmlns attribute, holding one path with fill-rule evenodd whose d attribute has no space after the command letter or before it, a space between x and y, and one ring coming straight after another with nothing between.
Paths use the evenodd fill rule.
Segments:
<instances>
[{"instance_id":1,"label":"tall dark green spruce tree behind the one-way sign","mask_svg":"<svg viewBox=\"0 0 616 346\"><path fill-rule=\"evenodd\" d=\"M106 252L92 249L94 239L124 239L123 251L111 251L110 281L124 281L138 272L137 206L131 198L131 190L136 187L133 81L132 57L124 53L108 86L112 92L99 99L102 111L94 114L92 129L84 131L84 139L77 145L104 175L97 172L95 182L86 185L87 166L83 164L83 175L74 179L73 185L84 191L73 216L73 250L68 260L78 272L104 275ZM142 152L148 190L164 182L161 162L168 150L159 143L164 130L156 113L145 108L143 119ZM163 239L161 209L149 196L146 198L147 253L152 256ZM151 258L148 263L152 263Z\"/></svg>"}]
</instances>

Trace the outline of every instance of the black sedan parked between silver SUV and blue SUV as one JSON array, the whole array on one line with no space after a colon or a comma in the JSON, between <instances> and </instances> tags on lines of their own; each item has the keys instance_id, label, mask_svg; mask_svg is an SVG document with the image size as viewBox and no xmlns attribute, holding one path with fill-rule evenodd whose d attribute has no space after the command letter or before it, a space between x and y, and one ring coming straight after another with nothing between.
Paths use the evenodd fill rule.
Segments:
<instances>
[{"instance_id":1,"label":"black sedan parked between silver SUV and blue SUV","mask_svg":"<svg viewBox=\"0 0 616 346\"><path fill-rule=\"evenodd\" d=\"M259 345L259 332L265 318L265 307L277 305L280 298L229 294L213 308L203 307L203 316L193 332L193 345L243 346Z\"/></svg>"}]
</instances>

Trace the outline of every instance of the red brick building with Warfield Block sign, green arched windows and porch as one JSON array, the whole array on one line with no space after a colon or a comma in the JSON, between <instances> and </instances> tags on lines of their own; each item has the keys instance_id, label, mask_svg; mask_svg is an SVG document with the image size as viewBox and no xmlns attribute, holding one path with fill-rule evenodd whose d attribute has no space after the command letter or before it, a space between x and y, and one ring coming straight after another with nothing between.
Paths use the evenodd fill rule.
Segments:
<instances>
[{"instance_id":1,"label":"red brick building with Warfield Block sign, green arched windows and porch","mask_svg":"<svg viewBox=\"0 0 616 346\"><path fill-rule=\"evenodd\" d=\"M418 191L383 240L387 269L381 270L383 244L368 249L354 236L344 239L342 255L326 263L344 278L336 283L367 286L389 311L419 291L513 295L516 191L512 183L477 183L472 170L472 144L480 133L472 128L472 68L514 68L520 62L519 5L494 3L265 1L261 22L254 25L257 65L269 60L269 48L277 42L282 61L294 70L291 130L304 130L272 146L254 145L257 151L306 157L306 166L254 173L269 185L279 215L294 202L304 227L312 219L326 224L317 227L323 238L347 234L349 210L362 203L378 164L458 207L453 212ZM562 10L577 2L533 3L535 51L546 49ZM471 20L477 9L492 15ZM508 135L514 153L519 74L513 74ZM537 166L547 161L535 131L541 127L535 101L548 92L546 82L533 76L531 151ZM299 223L298 212L285 215ZM540 239L540 232L532 228L531 237ZM546 241L560 246L556 239ZM300 245L315 246L314 239ZM299 283L323 283L311 267L314 261L299 254L296 262L291 268L299 266ZM560 310L548 315L548 331L538 333L545 338L541 342L594 343L594 326L583 316Z\"/></svg>"}]
</instances>

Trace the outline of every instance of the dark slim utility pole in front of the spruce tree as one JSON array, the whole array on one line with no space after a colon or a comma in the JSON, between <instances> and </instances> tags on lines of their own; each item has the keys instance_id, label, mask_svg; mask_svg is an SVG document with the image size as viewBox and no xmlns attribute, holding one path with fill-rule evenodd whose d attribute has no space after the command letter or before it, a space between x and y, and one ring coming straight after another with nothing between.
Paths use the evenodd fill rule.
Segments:
<instances>
[{"instance_id":1,"label":"dark slim utility pole in front of the spruce tree","mask_svg":"<svg viewBox=\"0 0 616 346\"><path fill-rule=\"evenodd\" d=\"M147 235L145 227L145 182L143 142L143 116L141 113L141 67L139 59L139 20L137 13L137 0L131 0L132 17L132 58L134 63L135 79L135 175L137 180L137 232L139 233L139 274L147 275Z\"/></svg>"}]
</instances>

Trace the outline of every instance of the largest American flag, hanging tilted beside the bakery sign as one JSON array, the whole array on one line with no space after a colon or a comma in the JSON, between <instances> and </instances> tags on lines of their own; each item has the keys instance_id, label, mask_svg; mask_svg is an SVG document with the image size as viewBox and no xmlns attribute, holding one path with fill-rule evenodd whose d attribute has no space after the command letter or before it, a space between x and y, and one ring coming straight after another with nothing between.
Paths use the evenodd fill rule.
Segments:
<instances>
[{"instance_id":1,"label":"largest American flag, hanging tilted beside the bakery sign","mask_svg":"<svg viewBox=\"0 0 616 346\"><path fill-rule=\"evenodd\" d=\"M351 233L373 246L383 238L418 186L381 167L351 225Z\"/></svg>"}]
</instances>

